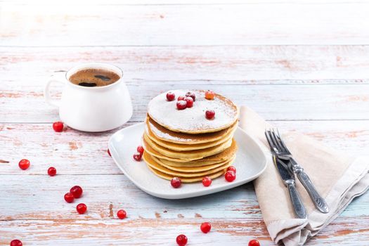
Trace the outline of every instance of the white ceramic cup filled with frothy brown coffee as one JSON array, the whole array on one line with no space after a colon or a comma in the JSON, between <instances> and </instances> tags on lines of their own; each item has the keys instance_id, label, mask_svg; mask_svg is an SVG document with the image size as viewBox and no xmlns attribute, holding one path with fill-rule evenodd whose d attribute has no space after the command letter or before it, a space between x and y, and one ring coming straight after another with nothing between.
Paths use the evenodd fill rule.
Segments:
<instances>
[{"instance_id":1,"label":"white ceramic cup filled with frothy brown coffee","mask_svg":"<svg viewBox=\"0 0 369 246\"><path fill-rule=\"evenodd\" d=\"M131 96L114 65L86 63L57 72L44 89L45 101L59 108L60 119L79 131L108 131L132 116ZM50 96L53 82L63 84L60 101Z\"/></svg>"}]
</instances>

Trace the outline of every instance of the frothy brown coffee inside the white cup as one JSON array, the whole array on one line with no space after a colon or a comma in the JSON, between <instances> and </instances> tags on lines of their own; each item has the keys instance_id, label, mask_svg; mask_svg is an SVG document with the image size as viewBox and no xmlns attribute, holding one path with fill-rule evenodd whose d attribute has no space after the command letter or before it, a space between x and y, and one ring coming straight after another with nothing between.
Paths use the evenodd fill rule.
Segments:
<instances>
[{"instance_id":1,"label":"frothy brown coffee inside the white cup","mask_svg":"<svg viewBox=\"0 0 369 246\"><path fill-rule=\"evenodd\" d=\"M107 86L117 82L118 79L120 77L115 72L96 68L79 70L69 78L73 84L86 87Z\"/></svg>"}]
</instances>

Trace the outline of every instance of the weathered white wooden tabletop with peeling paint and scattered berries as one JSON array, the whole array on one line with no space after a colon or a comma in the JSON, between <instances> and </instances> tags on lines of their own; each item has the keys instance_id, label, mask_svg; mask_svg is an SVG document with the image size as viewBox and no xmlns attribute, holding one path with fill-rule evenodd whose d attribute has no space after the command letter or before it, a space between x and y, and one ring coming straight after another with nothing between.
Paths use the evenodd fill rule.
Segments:
<instances>
[{"instance_id":1,"label":"weathered white wooden tabletop with peeling paint and scattered berries","mask_svg":"<svg viewBox=\"0 0 369 246\"><path fill-rule=\"evenodd\" d=\"M273 245L252 183L153 198L107 155L116 130L53 131L58 110L44 103L44 84L78 63L113 63L134 103L123 127L141 122L157 93L212 89L280 129L368 154L368 10L358 0L0 1L0 245L175 245L180 233L189 245ZM84 215L63 200L74 185L84 188ZM128 218L117 219L118 209ZM200 232L203 221L212 233ZM308 245L368 242L366 193Z\"/></svg>"}]
</instances>

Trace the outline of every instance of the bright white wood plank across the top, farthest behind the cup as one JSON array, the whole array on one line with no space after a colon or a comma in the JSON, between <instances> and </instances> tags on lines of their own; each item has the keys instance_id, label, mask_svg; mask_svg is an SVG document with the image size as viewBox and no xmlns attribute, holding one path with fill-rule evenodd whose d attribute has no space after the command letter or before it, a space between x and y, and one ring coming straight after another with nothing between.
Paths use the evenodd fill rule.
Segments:
<instances>
[{"instance_id":1,"label":"bright white wood plank across the top, farthest behind the cup","mask_svg":"<svg viewBox=\"0 0 369 246\"><path fill-rule=\"evenodd\" d=\"M0 37L2 46L369 44L368 9L367 2L3 4Z\"/></svg>"}]
</instances>

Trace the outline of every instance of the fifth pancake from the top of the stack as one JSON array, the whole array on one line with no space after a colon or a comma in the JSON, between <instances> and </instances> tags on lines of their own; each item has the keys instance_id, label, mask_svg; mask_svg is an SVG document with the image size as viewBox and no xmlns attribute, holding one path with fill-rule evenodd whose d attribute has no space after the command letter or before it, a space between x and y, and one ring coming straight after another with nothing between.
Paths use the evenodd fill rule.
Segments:
<instances>
[{"instance_id":1,"label":"fifth pancake from the top of the stack","mask_svg":"<svg viewBox=\"0 0 369 246\"><path fill-rule=\"evenodd\" d=\"M157 157L161 162L164 164L167 164L172 167L186 167L191 166L192 167L200 167L201 165L205 166L207 164L214 164L218 162L223 162L226 160L230 160L233 155L235 155L237 151L237 143L235 143L235 140L232 141L231 147L226 148L226 150L222 151L221 153L218 153L216 155L211 155L205 158L202 158L200 160L193 160L193 161L186 161L181 160L178 158L171 158L167 157L165 155L160 154L156 150L150 147L147 143L145 143L145 140L143 139L143 148L146 152L148 152L150 155L153 155Z\"/></svg>"}]
</instances>

